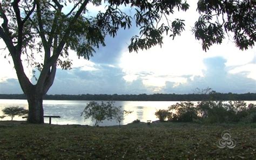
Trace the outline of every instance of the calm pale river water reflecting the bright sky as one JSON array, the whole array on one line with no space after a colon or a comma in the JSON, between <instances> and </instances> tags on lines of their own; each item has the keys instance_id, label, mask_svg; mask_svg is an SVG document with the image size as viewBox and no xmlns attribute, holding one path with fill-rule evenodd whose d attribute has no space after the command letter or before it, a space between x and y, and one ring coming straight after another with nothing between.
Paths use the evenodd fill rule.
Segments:
<instances>
[{"instance_id":1,"label":"calm pale river water reflecting the bright sky","mask_svg":"<svg viewBox=\"0 0 256 160\"><path fill-rule=\"evenodd\" d=\"M66 125L66 124L78 124L78 125L94 125L95 122L91 119L84 120L80 114L84 110L84 107L90 101L87 100L44 100L44 115L59 115L61 118L52 118L52 124ZM158 120L154 113L159 109L167 109L170 105L176 104L178 101L116 101L115 106L122 106L124 110L133 111L127 115L122 124L131 123L133 120L139 119L146 122L147 120ZM247 104L256 104L256 101L245 101ZM101 101L98 101L101 103ZM196 104L196 103L194 103ZM3 108L10 106L19 106L28 109L28 102L26 100L19 99L0 99L0 115L3 115ZM10 117L5 117L2 120L11 120ZM24 120L21 117L15 117L14 120ZM45 118L46 123L49 122L48 118ZM104 121L100 123L100 126L112 126L118 125L115 120Z\"/></svg>"}]
</instances>

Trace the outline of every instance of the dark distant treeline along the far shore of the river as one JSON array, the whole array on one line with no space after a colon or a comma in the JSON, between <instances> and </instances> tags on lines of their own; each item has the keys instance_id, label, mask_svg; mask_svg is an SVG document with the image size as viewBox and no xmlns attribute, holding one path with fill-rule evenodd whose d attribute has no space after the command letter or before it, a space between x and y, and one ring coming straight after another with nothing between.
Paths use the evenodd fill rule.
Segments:
<instances>
[{"instance_id":1,"label":"dark distant treeline along the far shore of the river","mask_svg":"<svg viewBox=\"0 0 256 160\"><path fill-rule=\"evenodd\" d=\"M24 94L0 94L0 99L26 99ZM44 100L124 100L124 101L201 101L201 100L256 100L256 93L214 94L55 94L44 96Z\"/></svg>"}]
</instances>

